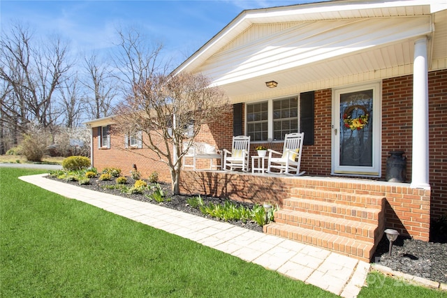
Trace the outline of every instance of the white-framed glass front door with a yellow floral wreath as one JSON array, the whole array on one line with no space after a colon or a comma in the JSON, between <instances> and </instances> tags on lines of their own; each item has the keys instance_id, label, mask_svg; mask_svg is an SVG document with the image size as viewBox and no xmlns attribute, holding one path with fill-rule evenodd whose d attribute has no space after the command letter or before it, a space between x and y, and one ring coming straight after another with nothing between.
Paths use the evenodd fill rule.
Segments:
<instances>
[{"instance_id":1,"label":"white-framed glass front door with a yellow floral wreath","mask_svg":"<svg viewBox=\"0 0 447 298\"><path fill-rule=\"evenodd\" d=\"M381 85L333 91L332 174L381 175Z\"/></svg>"}]
</instances>

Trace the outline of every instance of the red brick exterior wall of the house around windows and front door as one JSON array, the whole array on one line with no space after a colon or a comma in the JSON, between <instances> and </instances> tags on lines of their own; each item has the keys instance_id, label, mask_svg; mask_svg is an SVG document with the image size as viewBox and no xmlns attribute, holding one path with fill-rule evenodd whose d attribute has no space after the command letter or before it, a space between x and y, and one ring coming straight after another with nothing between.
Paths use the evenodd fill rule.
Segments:
<instances>
[{"instance_id":1,"label":"red brick exterior wall of the house around windows and front door","mask_svg":"<svg viewBox=\"0 0 447 298\"><path fill-rule=\"evenodd\" d=\"M382 89L382 177L386 174L386 159L389 151L402 150L407 158L407 181L411 179L411 155L412 150L412 87L413 77L394 77L383 80ZM431 188L431 216L438 218L447 213L447 70L439 70L429 73L429 110L430 110L430 184ZM312 146L305 146L302 153L301 170L312 176L330 176L331 165L331 115L332 115L332 90L323 89L315 91L315 142ZM230 149L233 136L233 114L222 114L217 121L204 126L196 140L214 144L218 149ZM133 163L138 165L138 170L149 175L153 170L161 173L161 180L170 181L170 175L166 165L154 158L151 161L115 149L115 138L112 137L112 147L108 150L98 150L96 130L94 129L94 165L102 168L106 166L122 167L124 173L129 172ZM256 154L251 145L251 154ZM281 150L282 144L270 144L273 149ZM141 149L145 150L145 149ZM202 164L200 164L202 163ZM209 161L201 161L200 167L208 167ZM191 174L191 173L188 173ZM203 173L202 173L203 174ZM243 176L243 175L242 175ZM198 177L194 177L198 179ZM216 183L216 177L212 182ZM223 188L228 188L235 195L235 190L259 192L261 188L252 188L249 180L240 178L241 181L232 178L231 181L221 181ZM237 180L237 182L235 182ZM269 182L270 183L270 182ZM281 185L281 184L275 184ZM183 186L185 189L186 186ZM279 186L281 188L283 186ZM285 187L285 186L284 186ZM277 187L278 188L278 187ZM192 188L191 188L192 189ZM276 188L275 188L276 189ZM276 189L278 191L278 189ZM265 191L265 190L263 190ZM278 193L275 191L275 193ZM279 198L285 198L285 193L279 192ZM410 195L410 194L409 194ZM413 194L411 194L413 195ZM235 195L236 196L236 195ZM402 195L404 197L404 195ZM242 198L242 197L241 197ZM266 195L265 198L277 201ZM397 222L411 221L411 214L417 209L414 198L412 202L408 198L393 198L389 200L387 209L388 218L392 225ZM243 200L250 200L243 198ZM427 208L426 202L419 204L419 208ZM410 205L411 204L411 207ZM421 207L424 205L425 207ZM398 211L398 212L397 212ZM409 217L409 218L407 218ZM395 221L396 223L393 223ZM405 223L407 225L407 223ZM425 224L425 223L424 223ZM417 227L416 227L417 228ZM424 229L424 228L423 228Z\"/></svg>"}]
</instances>

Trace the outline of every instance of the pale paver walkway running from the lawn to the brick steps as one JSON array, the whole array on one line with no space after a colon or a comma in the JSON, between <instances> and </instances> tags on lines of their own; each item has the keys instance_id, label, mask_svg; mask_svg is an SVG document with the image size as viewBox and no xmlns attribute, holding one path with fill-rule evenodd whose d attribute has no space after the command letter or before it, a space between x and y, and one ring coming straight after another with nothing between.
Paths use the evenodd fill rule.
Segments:
<instances>
[{"instance_id":1,"label":"pale paver walkway running from the lawn to the brick steps","mask_svg":"<svg viewBox=\"0 0 447 298\"><path fill-rule=\"evenodd\" d=\"M86 202L133 221L235 255L247 262L254 262L342 297L356 297L365 284L369 271L367 262L156 204L90 191L47 179L45 175L24 176L20 179L66 198Z\"/></svg>"}]
</instances>

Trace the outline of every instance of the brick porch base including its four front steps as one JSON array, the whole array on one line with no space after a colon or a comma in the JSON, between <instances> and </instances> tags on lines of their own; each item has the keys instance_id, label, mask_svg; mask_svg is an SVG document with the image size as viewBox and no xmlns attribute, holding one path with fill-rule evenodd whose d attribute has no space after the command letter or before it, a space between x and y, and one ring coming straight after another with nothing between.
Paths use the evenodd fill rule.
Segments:
<instances>
[{"instance_id":1,"label":"brick porch base including its four front steps","mask_svg":"<svg viewBox=\"0 0 447 298\"><path fill-rule=\"evenodd\" d=\"M183 171L182 193L278 204L264 232L370 260L383 230L428 241L430 191L339 177Z\"/></svg>"}]
</instances>

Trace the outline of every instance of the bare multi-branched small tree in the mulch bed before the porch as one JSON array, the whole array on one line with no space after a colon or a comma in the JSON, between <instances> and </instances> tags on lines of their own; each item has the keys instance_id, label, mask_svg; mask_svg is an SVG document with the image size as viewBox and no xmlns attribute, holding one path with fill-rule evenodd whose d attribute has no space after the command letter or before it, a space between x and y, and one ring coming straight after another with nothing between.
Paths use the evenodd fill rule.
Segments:
<instances>
[{"instance_id":1,"label":"bare multi-branched small tree in the mulch bed before the porch","mask_svg":"<svg viewBox=\"0 0 447 298\"><path fill-rule=\"evenodd\" d=\"M210 87L207 77L191 73L152 74L133 86L133 94L119 105L114 129L122 134L142 131L147 135L142 137L143 145L168 165L173 193L178 194L182 156L200 128L229 108L228 98L219 88Z\"/></svg>"}]
</instances>

